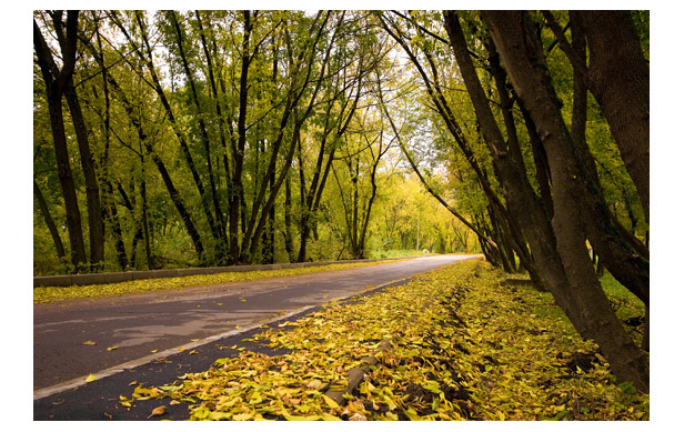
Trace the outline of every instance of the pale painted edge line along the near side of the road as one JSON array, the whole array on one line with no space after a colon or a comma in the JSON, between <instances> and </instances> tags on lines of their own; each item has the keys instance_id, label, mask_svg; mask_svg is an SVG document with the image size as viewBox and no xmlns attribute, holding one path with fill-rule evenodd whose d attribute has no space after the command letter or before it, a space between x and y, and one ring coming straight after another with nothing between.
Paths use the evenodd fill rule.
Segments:
<instances>
[{"instance_id":1,"label":"pale painted edge line along the near side of the road","mask_svg":"<svg viewBox=\"0 0 684 432\"><path fill-rule=\"evenodd\" d=\"M393 283L398 283L398 282L403 281L404 279L409 279L409 278L412 278L412 277L396 279L396 280L393 280L393 281L390 281L390 282L382 283L380 285L374 285L374 287L365 288L365 289L360 290L360 291L358 291L358 292L355 292L353 294L345 295L345 297L342 297L342 298L335 298L335 300L344 300L344 299L349 299L350 297L360 295L360 294L366 293L369 291L378 290L378 289L391 285ZM161 358L165 358L165 356L171 356L171 355L174 355L174 354L179 354L180 351L191 350L191 349L194 349L194 348L198 348L198 346L201 346L201 345L205 345L205 344L211 343L211 342L219 341L221 339L231 338L231 336L234 336L234 335L238 335L238 334L247 333L247 332L249 332L251 330L254 330L256 328L270 324L270 323L275 322L275 321L285 320L288 318L294 317L294 315L300 314L302 312L306 312L308 310L311 310L311 309L314 309L314 308L320 308L320 307L321 307L320 304L314 304L314 305L306 305L306 307L303 307L303 308L300 308L300 309L295 309L294 311L288 312L288 313L283 314L283 315L278 315L278 317L275 317L275 318L273 318L271 320L268 320L265 322L264 321L260 321L260 322L258 322L255 324L252 324L252 325L249 325L249 326L247 326L244 329L231 330L231 331L223 332L223 333L220 333L220 334L211 335L209 338L204 338L204 339L199 340L199 341L185 343L185 344L182 344L180 346L170 348L168 350L164 350L164 351L161 351L161 352L157 352L157 353L151 354L151 355L145 355L145 356L142 356L140 359L131 360L129 362L121 363L121 364L118 364L115 366L104 369L102 371L92 373L92 375L94 375L95 379L101 380L103 378L114 375L114 374L123 372L125 370L134 369L134 368L139 368L141 365L144 365L144 364L148 364L148 363L150 363L150 362L152 362L152 361L154 361L157 359L161 359ZM86 380L83 378L77 378L77 379L69 380L69 381L66 381L66 382L62 382L62 383L59 383L59 384L54 384L54 385L50 385L50 386L47 386L47 388L38 389L38 390L33 391L33 400L36 401L36 400L39 400L39 399L48 398L48 396L51 396L51 395L57 394L57 393L61 393L61 392L67 391L67 390L77 389L77 388L82 386L84 384L87 384L87 382L86 382Z\"/></svg>"}]
</instances>

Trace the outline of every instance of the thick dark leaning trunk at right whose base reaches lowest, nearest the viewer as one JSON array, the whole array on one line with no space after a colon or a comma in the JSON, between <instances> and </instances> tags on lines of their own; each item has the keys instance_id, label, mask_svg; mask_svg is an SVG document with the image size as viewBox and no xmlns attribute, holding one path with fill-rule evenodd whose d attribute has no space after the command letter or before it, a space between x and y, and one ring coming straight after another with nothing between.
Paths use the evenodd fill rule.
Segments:
<instances>
[{"instance_id":1,"label":"thick dark leaning trunk at right whose base reaches lowest, nearest the viewer","mask_svg":"<svg viewBox=\"0 0 684 432\"><path fill-rule=\"evenodd\" d=\"M550 287L567 298L566 313L582 336L595 340L618 380L648 391L647 362L612 311L586 253L584 227L586 183L577 169L572 138L560 113L541 41L525 12L485 11L484 18L515 91L530 111L553 179L553 231L567 284ZM580 204L580 205L579 205Z\"/></svg>"}]
</instances>

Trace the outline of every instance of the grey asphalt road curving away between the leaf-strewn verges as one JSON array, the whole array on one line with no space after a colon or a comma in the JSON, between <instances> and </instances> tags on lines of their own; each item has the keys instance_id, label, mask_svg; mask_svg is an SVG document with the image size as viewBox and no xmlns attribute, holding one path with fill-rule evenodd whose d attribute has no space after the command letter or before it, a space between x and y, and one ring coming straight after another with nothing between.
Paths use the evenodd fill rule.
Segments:
<instances>
[{"instance_id":1,"label":"grey asphalt road curving away between the leaf-strewn verges","mask_svg":"<svg viewBox=\"0 0 684 432\"><path fill-rule=\"evenodd\" d=\"M222 346L258 332L266 322L293 319L333 299L469 258L474 255L433 255L300 277L37 304L34 419L105 420L110 414L102 413L112 411L108 406L122 394L115 386L125 389L131 381L161 385L184 373L182 369L204 370L228 356ZM197 354L190 355L191 351ZM90 373L98 381L86 384ZM107 389L114 402L103 395ZM89 406L84 400L101 406ZM64 401L71 403L60 410Z\"/></svg>"}]
</instances>

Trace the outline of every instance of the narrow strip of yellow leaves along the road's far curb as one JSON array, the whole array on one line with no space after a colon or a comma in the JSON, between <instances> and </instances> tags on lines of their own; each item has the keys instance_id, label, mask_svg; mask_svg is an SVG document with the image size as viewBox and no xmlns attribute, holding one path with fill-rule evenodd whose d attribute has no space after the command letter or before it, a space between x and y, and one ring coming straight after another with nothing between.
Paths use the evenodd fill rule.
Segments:
<instances>
[{"instance_id":1,"label":"narrow strip of yellow leaves along the road's far curb","mask_svg":"<svg viewBox=\"0 0 684 432\"><path fill-rule=\"evenodd\" d=\"M33 304L52 303L66 300L98 299L132 294L139 292L178 290L187 287L203 287L220 283L244 282L266 278L281 278L300 274L311 274L321 271L345 270L356 267L389 264L398 260L338 263L316 267L302 267L294 269L259 270L250 272L227 272L215 274L197 274L177 278L142 279L108 284L81 287L36 287L33 288Z\"/></svg>"}]
</instances>

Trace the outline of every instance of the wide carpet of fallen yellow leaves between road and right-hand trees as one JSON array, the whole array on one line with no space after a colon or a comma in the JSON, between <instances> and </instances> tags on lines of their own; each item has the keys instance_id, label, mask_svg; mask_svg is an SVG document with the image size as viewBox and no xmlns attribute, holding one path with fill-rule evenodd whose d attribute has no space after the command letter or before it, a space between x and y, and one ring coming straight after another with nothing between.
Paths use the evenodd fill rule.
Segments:
<instances>
[{"instance_id":1,"label":"wide carpet of fallen yellow leaves between road and right-hand trees","mask_svg":"<svg viewBox=\"0 0 684 432\"><path fill-rule=\"evenodd\" d=\"M242 351L121 403L170 398L191 420L648 419L648 395L615 385L549 294L502 279L471 261L332 303L254 336L286 354ZM345 402L328 398L383 339L391 348Z\"/></svg>"}]
</instances>

